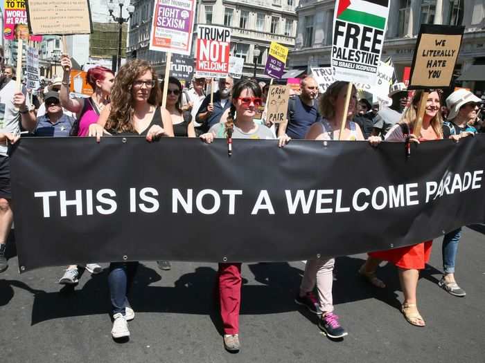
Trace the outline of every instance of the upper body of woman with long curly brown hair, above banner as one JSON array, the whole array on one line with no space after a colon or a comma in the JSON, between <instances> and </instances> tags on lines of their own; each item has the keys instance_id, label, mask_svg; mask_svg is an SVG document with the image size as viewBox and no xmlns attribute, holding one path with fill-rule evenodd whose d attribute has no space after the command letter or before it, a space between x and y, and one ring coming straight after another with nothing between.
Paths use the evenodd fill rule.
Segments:
<instances>
[{"instance_id":1,"label":"upper body of woman with long curly brown hair, above banner","mask_svg":"<svg viewBox=\"0 0 485 363\"><path fill-rule=\"evenodd\" d=\"M120 68L114 79L111 103L98 122L89 126L89 136L98 142L103 133L118 136L173 136L170 113L161 102L157 73L148 62L134 59Z\"/></svg>"}]
</instances>

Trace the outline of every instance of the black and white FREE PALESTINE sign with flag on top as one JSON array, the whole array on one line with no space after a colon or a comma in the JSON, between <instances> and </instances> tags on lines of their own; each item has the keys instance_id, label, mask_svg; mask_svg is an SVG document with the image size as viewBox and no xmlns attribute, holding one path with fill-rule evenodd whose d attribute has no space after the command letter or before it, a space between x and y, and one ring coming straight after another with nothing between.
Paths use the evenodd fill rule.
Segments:
<instances>
[{"instance_id":1,"label":"black and white FREE PALESTINE sign with flag on top","mask_svg":"<svg viewBox=\"0 0 485 363\"><path fill-rule=\"evenodd\" d=\"M376 83L388 0L338 0L333 17L335 80Z\"/></svg>"}]
</instances>

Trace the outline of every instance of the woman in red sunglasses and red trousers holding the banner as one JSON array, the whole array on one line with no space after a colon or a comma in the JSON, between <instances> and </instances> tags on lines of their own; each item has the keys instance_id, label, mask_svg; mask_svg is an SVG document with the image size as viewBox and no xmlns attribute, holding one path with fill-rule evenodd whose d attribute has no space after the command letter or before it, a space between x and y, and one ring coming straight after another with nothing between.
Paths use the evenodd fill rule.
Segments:
<instances>
[{"instance_id":1,"label":"woman in red sunglasses and red trousers holding the banner","mask_svg":"<svg viewBox=\"0 0 485 363\"><path fill-rule=\"evenodd\" d=\"M200 136L210 144L214 138L276 139L263 124L254 122L256 109L261 106L261 87L254 81L242 80L233 87L233 98L227 121L215 124ZM283 147L290 141L288 135L279 137ZM224 348L239 351L239 309L241 301L241 263L219 263L220 315L224 324Z\"/></svg>"}]
</instances>

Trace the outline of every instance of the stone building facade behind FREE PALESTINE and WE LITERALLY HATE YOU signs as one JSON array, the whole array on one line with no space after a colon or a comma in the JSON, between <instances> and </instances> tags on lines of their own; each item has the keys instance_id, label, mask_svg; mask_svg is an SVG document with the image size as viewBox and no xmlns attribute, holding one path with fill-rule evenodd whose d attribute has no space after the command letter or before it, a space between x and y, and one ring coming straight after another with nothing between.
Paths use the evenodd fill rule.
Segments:
<instances>
[{"instance_id":1,"label":"stone building facade behind FREE PALESTINE and WE LITERALLY HATE YOU signs","mask_svg":"<svg viewBox=\"0 0 485 363\"><path fill-rule=\"evenodd\" d=\"M421 24L465 26L455 68L455 85L485 94L485 82L459 81L473 65L483 65L485 75L484 0L390 0L382 59L391 57L398 79L411 66ZM310 72L312 66L330 66L334 0L301 0L297 7L295 48L289 55L290 68Z\"/></svg>"}]
</instances>

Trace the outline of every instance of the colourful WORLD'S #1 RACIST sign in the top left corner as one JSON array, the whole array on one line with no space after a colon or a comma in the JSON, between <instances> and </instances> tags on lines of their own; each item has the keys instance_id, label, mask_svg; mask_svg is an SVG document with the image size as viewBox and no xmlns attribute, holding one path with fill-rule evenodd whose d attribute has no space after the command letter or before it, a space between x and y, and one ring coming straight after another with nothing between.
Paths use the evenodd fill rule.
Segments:
<instances>
[{"instance_id":1,"label":"colourful WORLD'S #1 RACIST sign in the top left corner","mask_svg":"<svg viewBox=\"0 0 485 363\"><path fill-rule=\"evenodd\" d=\"M3 9L3 37L5 39L12 40L21 37L24 40L42 41L41 36L29 36L24 0L5 0Z\"/></svg>"}]
</instances>

